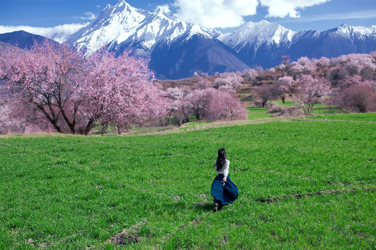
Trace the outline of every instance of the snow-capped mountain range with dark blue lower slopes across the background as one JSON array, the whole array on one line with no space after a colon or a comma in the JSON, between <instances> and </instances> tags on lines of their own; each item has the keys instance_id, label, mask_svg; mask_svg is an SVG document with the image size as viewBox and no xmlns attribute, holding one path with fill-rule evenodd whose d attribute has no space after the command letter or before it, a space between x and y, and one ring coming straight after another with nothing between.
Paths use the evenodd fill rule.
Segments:
<instances>
[{"instance_id":1,"label":"snow-capped mountain range with dark blue lower slopes across the background","mask_svg":"<svg viewBox=\"0 0 376 250\"><path fill-rule=\"evenodd\" d=\"M14 33L0 35L0 41L18 41L20 47L21 35ZM2 38L4 35L8 40ZM17 39L9 38L16 35ZM253 65L270 68L280 64L281 56L286 54L297 60L302 56L330 58L370 53L376 50L376 28L343 24L324 32L293 32L262 20L222 34L179 20L168 8L149 12L120 0L115 6L107 5L96 20L68 36L65 42L88 53L103 46L116 54L132 50L137 56L150 59L157 78L179 79L198 70L243 71Z\"/></svg>"}]
</instances>

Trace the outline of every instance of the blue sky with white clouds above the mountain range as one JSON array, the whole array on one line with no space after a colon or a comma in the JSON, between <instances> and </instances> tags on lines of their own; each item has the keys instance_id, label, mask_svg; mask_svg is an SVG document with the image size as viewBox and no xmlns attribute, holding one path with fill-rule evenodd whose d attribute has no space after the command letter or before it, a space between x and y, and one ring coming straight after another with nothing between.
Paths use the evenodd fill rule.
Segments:
<instances>
[{"instance_id":1,"label":"blue sky with white clouds above the mountain range","mask_svg":"<svg viewBox=\"0 0 376 250\"><path fill-rule=\"evenodd\" d=\"M2 2L0 33L17 30L18 26L61 26L64 30L70 25L71 30L78 29L91 22L107 4L115 5L118 0L6 0ZM258 22L262 19L279 23L294 31L323 31L343 23L353 26L376 26L376 0L126 0L126 2L133 7L149 11L153 11L157 5L168 4L171 11L179 18L201 22L209 27L218 23L220 27L215 28L224 33L232 32L244 21ZM219 2L225 6L218 9L211 8ZM200 5L201 7L197 8ZM214 9L216 13L213 13ZM208 18L210 21L205 21ZM64 24L66 26L62 26ZM70 31L64 30L64 32Z\"/></svg>"}]
</instances>

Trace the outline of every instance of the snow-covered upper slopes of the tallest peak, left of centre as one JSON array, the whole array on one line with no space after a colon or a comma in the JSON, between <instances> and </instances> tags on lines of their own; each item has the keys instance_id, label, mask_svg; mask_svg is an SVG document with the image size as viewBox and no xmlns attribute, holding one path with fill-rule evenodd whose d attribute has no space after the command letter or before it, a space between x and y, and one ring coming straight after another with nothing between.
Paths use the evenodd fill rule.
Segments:
<instances>
[{"instance_id":1,"label":"snow-covered upper slopes of the tallest peak, left of centre","mask_svg":"<svg viewBox=\"0 0 376 250\"><path fill-rule=\"evenodd\" d=\"M150 54L161 42L169 45L197 34L211 39L220 35L216 30L179 20L167 6L149 12L120 0L115 6L107 5L96 20L67 41L78 49L87 49L88 53L109 45L115 51L136 46L141 54L143 50Z\"/></svg>"}]
</instances>

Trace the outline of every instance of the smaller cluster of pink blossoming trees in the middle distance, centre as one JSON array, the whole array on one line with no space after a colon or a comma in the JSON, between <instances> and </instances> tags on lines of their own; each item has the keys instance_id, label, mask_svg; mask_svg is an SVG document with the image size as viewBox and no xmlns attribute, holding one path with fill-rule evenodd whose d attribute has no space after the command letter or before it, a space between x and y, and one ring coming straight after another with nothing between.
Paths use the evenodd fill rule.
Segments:
<instances>
[{"instance_id":1,"label":"smaller cluster of pink blossoming trees in the middle distance, centre","mask_svg":"<svg viewBox=\"0 0 376 250\"><path fill-rule=\"evenodd\" d=\"M195 89L173 87L165 91L164 96L171 100L170 114L174 114L178 123L189 121L191 114L196 120L246 119L246 108L234 96L243 78L228 72L216 75L211 82L207 74L195 72L194 77L199 77Z\"/></svg>"}]
</instances>

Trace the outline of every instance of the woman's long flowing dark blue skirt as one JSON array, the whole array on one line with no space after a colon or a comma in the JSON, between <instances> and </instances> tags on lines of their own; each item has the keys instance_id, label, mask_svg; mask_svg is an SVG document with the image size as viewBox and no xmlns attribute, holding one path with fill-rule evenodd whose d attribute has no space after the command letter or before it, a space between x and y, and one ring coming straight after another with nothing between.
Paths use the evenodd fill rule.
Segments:
<instances>
[{"instance_id":1,"label":"woman's long flowing dark blue skirt","mask_svg":"<svg viewBox=\"0 0 376 250\"><path fill-rule=\"evenodd\" d=\"M214 199L220 200L222 205L227 205L238 198L239 191L237 185L231 181L229 175L227 175L227 181L224 182L224 185L221 182L223 178L222 174L218 174L214 178L210 191Z\"/></svg>"}]
</instances>

